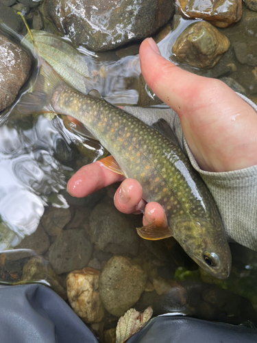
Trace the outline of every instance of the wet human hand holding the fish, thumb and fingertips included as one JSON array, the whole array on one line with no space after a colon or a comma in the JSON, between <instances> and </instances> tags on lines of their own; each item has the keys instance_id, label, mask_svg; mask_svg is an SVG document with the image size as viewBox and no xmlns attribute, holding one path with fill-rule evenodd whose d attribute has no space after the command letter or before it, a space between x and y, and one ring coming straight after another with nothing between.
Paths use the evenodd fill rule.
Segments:
<instances>
[{"instance_id":1,"label":"wet human hand holding the fish, thumb and fingertips included","mask_svg":"<svg viewBox=\"0 0 257 343\"><path fill-rule=\"evenodd\" d=\"M254 109L219 80L204 78L175 66L160 56L154 40L140 47L143 76L160 99L178 113L188 146L199 167L206 171L232 171L257 164L257 116ZM90 184L88 180L90 179ZM79 169L68 191L78 198L122 181L101 161ZM145 211L143 225L166 222L160 204L142 199L139 182L126 179L114 197L123 213Z\"/></svg>"}]
</instances>

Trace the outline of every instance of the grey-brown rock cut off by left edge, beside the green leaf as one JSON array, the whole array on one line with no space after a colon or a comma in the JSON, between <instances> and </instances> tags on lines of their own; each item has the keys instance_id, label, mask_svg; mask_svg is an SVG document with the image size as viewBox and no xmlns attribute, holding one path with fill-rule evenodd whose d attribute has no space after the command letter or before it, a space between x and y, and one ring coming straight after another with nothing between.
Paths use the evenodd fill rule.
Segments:
<instances>
[{"instance_id":1,"label":"grey-brown rock cut off by left edge, beside the green leaf","mask_svg":"<svg viewBox=\"0 0 257 343\"><path fill-rule=\"evenodd\" d=\"M0 111L12 104L27 80L31 65L26 51L0 35Z\"/></svg>"}]
</instances>

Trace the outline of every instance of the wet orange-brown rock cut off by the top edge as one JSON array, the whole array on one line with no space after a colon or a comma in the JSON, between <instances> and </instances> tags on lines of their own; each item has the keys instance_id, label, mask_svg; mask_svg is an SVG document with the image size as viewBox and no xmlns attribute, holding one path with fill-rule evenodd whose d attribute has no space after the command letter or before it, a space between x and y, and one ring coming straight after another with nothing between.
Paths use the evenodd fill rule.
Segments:
<instances>
[{"instance_id":1,"label":"wet orange-brown rock cut off by the top edge","mask_svg":"<svg viewBox=\"0 0 257 343\"><path fill-rule=\"evenodd\" d=\"M242 0L176 0L186 19L201 18L217 27L228 27L242 16Z\"/></svg>"}]
</instances>

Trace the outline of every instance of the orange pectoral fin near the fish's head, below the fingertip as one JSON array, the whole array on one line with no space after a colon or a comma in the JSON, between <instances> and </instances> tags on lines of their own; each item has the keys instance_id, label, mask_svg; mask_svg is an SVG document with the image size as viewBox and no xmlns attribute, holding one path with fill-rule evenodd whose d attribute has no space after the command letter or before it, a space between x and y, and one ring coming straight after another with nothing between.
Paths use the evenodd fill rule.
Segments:
<instances>
[{"instance_id":1,"label":"orange pectoral fin near the fish's head, below the fingertip","mask_svg":"<svg viewBox=\"0 0 257 343\"><path fill-rule=\"evenodd\" d=\"M172 231L169 226L162 226L162 224L154 221L142 228L136 228L138 235L151 241L157 241L158 239L164 239L172 236Z\"/></svg>"}]
</instances>

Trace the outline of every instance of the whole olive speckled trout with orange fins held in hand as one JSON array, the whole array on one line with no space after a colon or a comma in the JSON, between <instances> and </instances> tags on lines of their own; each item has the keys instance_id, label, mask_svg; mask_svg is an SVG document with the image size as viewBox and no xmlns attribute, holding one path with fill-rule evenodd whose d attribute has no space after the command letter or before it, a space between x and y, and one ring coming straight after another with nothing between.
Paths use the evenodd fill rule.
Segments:
<instances>
[{"instance_id":1,"label":"whole olive speckled trout with orange fins held in hand","mask_svg":"<svg viewBox=\"0 0 257 343\"><path fill-rule=\"evenodd\" d=\"M227 278L231 254L219 211L175 139L168 139L101 97L79 93L44 60L40 68L34 91L24 95L19 110L33 108L37 113L55 112L81 121L112 154L103 163L138 180L143 198L162 205L169 226L154 222L138 228L138 234L145 239L172 235L201 268L219 279Z\"/></svg>"}]
</instances>

